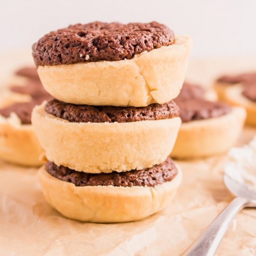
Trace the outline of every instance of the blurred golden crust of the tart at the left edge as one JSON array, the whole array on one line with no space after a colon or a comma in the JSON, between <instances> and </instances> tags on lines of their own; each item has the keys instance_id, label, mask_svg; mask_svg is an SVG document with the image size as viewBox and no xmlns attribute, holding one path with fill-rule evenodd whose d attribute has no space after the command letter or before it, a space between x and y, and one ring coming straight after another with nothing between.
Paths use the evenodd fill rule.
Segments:
<instances>
[{"instance_id":1,"label":"blurred golden crust of the tart at the left edge","mask_svg":"<svg viewBox=\"0 0 256 256\"><path fill-rule=\"evenodd\" d=\"M43 154L32 125L20 124L14 113L5 118L0 115L0 158L25 166L40 166Z\"/></svg>"}]
</instances>

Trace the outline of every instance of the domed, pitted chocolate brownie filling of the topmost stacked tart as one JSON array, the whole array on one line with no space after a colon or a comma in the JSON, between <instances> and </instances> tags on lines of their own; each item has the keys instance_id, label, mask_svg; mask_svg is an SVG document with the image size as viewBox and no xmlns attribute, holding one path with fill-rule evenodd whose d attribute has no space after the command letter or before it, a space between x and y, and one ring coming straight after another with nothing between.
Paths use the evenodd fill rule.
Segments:
<instances>
[{"instance_id":1,"label":"domed, pitted chocolate brownie filling of the topmost stacked tart","mask_svg":"<svg viewBox=\"0 0 256 256\"><path fill-rule=\"evenodd\" d=\"M120 61L174 43L174 33L157 22L75 24L34 43L36 66L90 61Z\"/></svg>"}]
</instances>

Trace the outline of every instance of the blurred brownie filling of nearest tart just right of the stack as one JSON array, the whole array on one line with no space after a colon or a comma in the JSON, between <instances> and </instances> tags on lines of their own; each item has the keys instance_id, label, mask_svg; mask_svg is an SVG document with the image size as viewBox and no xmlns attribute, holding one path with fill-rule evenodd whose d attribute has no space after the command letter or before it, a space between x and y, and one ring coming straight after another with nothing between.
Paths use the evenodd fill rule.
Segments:
<instances>
[{"instance_id":1,"label":"blurred brownie filling of nearest tart just right of the stack","mask_svg":"<svg viewBox=\"0 0 256 256\"><path fill-rule=\"evenodd\" d=\"M182 122L202 120L225 115L231 111L231 107L220 101L205 101L203 99L189 99L176 101L180 108Z\"/></svg>"}]
</instances>

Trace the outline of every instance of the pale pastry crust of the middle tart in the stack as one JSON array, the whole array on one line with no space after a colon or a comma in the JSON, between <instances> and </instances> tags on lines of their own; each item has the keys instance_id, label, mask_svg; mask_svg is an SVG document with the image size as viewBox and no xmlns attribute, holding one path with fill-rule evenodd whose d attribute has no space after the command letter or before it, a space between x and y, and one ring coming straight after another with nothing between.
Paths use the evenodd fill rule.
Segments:
<instances>
[{"instance_id":1,"label":"pale pastry crust of the middle tart in the stack","mask_svg":"<svg viewBox=\"0 0 256 256\"><path fill-rule=\"evenodd\" d=\"M45 103L44 103L45 104ZM35 107L32 123L48 160L88 173L149 168L168 157L180 117L128 123L75 123Z\"/></svg>"}]
</instances>

